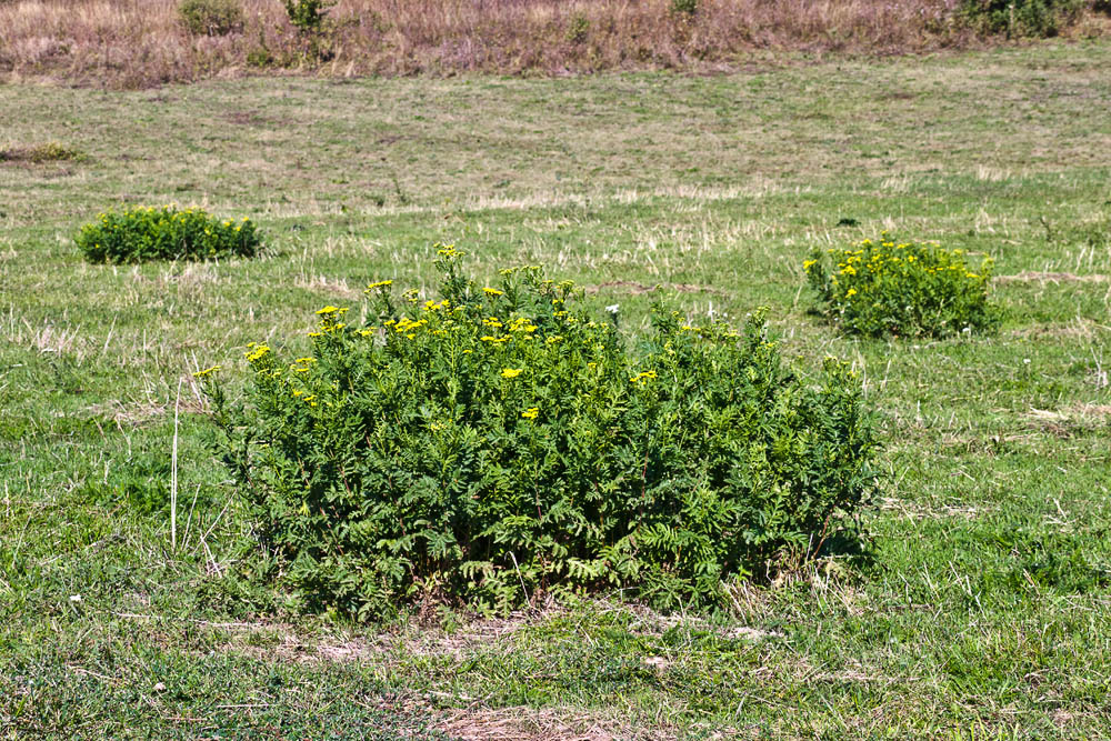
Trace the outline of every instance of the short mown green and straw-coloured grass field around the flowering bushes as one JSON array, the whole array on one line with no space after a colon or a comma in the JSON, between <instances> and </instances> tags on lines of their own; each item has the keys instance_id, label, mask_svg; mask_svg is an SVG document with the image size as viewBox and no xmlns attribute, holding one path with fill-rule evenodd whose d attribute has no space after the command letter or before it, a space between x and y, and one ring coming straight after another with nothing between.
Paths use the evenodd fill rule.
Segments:
<instances>
[{"instance_id":1,"label":"short mown green and straw-coloured grass field around the flowering bushes","mask_svg":"<svg viewBox=\"0 0 1111 741\"><path fill-rule=\"evenodd\" d=\"M1111 44L719 77L0 86L0 737L1108 738ZM60 147L46 148L57 143ZM52 154L32 156L34 152ZM261 259L90 266L122 202L257 220ZM997 260L998 336L838 337L801 262L889 229ZM867 559L661 615L288 614L190 372L313 311L537 263L620 303L771 307L885 440ZM177 434L176 434L177 424ZM171 451L177 440L177 470ZM177 477L176 545L170 482Z\"/></svg>"}]
</instances>

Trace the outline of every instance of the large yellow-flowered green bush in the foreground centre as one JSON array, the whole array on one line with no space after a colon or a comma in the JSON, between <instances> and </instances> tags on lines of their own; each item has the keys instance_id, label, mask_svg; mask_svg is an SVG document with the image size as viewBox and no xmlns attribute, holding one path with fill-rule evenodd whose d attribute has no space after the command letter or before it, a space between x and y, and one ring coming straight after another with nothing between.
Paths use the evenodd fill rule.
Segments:
<instances>
[{"instance_id":1,"label":"large yellow-flowered green bush in the foreground centre","mask_svg":"<svg viewBox=\"0 0 1111 741\"><path fill-rule=\"evenodd\" d=\"M311 607L500 611L561 585L703 604L853 531L875 443L842 363L804 382L761 314L733 331L659 307L630 351L570 282L479 288L441 254L438 299L382 281L366 323L318 311L304 357L250 347L247 403L199 372L264 552Z\"/></svg>"}]
</instances>

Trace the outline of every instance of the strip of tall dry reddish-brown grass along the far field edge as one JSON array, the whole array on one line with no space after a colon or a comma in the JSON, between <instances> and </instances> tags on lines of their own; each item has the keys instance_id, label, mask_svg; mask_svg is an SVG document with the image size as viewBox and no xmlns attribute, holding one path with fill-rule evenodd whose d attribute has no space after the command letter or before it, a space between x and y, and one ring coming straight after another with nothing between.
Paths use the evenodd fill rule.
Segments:
<instances>
[{"instance_id":1,"label":"strip of tall dry reddish-brown grass along the far field edge","mask_svg":"<svg viewBox=\"0 0 1111 741\"><path fill-rule=\"evenodd\" d=\"M0 3L0 70L114 88L263 68L338 77L710 72L763 50L895 53L975 43L954 22L955 4L700 0L687 16L671 0L339 0L326 38L310 43L278 0L241 0L242 31L212 37L186 29L177 0L8 0Z\"/></svg>"}]
</instances>

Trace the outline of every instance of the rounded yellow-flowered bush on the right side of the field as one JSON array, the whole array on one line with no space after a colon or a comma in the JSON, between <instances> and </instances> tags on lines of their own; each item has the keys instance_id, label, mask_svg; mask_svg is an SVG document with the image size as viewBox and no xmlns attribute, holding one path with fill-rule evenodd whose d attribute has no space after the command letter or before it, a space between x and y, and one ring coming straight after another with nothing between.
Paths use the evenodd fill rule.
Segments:
<instances>
[{"instance_id":1,"label":"rounded yellow-flowered bush on the right side of the field","mask_svg":"<svg viewBox=\"0 0 1111 741\"><path fill-rule=\"evenodd\" d=\"M884 232L802 263L821 313L841 331L881 337L944 337L994 329L988 300L992 262L970 266L963 250L935 242L895 243Z\"/></svg>"}]
</instances>

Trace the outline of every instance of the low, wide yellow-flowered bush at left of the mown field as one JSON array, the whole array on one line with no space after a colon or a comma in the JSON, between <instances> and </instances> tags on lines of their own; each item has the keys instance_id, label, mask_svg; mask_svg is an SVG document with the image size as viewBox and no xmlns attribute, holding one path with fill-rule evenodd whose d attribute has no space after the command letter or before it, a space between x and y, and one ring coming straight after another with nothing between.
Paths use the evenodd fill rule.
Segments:
<instances>
[{"instance_id":1,"label":"low, wide yellow-flowered bush at left of the mown field","mask_svg":"<svg viewBox=\"0 0 1111 741\"><path fill-rule=\"evenodd\" d=\"M172 206L107 211L82 227L76 241L90 262L118 263L251 257L260 247L247 217L220 221L201 209Z\"/></svg>"}]
</instances>

